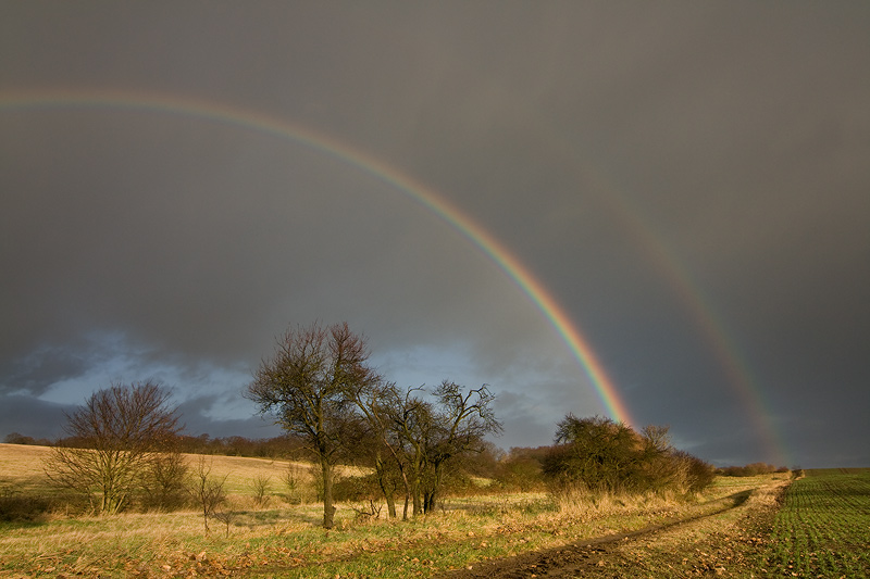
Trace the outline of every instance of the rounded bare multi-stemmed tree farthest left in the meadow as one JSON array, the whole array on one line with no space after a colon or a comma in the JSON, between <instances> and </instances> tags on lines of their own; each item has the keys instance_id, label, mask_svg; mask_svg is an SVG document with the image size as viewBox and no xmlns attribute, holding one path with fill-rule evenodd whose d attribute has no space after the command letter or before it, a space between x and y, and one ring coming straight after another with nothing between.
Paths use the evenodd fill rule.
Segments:
<instances>
[{"instance_id":1,"label":"rounded bare multi-stemmed tree farthest left in the meadow","mask_svg":"<svg viewBox=\"0 0 870 579\"><path fill-rule=\"evenodd\" d=\"M99 493L97 509L117 513L181 430L169 398L151 381L95 392L67 415L65 431L76 445L54 446L45 463L46 474L57 484L83 492L91 503L94 493Z\"/></svg>"}]
</instances>

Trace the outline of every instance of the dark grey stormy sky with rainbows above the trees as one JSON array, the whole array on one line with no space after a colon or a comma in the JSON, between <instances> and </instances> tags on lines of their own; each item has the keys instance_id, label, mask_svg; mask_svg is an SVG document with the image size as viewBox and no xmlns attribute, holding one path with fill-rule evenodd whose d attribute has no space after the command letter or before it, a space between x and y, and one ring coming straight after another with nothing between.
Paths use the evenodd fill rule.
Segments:
<instances>
[{"instance_id":1,"label":"dark grey stormy sky with rainbows above the trees","mask_svg":"<svg viewBox=\"0 0 870 579\"><path fill-rule=\"evenodd\" d=\"M0 3L0 437L288 328L719 466L870 466L870 4Z\"/></svg>"}]
</instances>

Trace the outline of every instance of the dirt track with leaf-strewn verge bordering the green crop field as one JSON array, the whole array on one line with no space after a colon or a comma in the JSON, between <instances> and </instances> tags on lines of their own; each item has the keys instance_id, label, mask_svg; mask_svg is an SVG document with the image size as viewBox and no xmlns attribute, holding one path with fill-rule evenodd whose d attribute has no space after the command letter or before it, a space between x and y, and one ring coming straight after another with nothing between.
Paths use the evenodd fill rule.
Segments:
<instances>
[{"instance_id":1,"label":"dirt track with leaf-strewn verge bordering the green crop field","mask_svg":"<svg viewBox=\"0 0 870 579\"><path fill-rule=\"evenodd\" d=\"M736 493L722 509L703 516L492 561L442 577L757 577L757 554L786 487L781 482Z\"/></svg>"}]
</instances>

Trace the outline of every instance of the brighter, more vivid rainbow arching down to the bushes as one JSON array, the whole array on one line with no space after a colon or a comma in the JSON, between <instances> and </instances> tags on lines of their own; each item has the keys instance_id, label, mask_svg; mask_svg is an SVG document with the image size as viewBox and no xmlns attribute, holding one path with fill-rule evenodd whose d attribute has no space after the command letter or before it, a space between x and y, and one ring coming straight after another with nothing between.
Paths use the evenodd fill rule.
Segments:
<instances>
[{"instance_id":1,"label":"brighter, more vivid rainbow arching down to the bushes","mask_svg":"<svg viewBox=\"0 0 870 579\"><path fill-rule=\"evenodd\" d=\"M595 387L610 417L629 425L634 424L617 386L607 375L588 341L544 285L483 226L410 175L328 135L239 106L175 95L113 89L0 91L0 111L55 108L146 110L224 123L303 144L381 179L445 221L495 262L532 300L564 340Z\"/></svg>"}]
</instances>

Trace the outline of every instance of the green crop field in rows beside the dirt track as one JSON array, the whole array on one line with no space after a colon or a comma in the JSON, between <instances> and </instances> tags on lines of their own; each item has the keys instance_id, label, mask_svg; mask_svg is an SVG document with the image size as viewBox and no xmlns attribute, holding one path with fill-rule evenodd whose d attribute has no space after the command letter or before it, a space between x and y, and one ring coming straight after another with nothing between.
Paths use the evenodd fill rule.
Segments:
<instances>
[{"instance_id":1,"label":"green crop field in rows beside the dirt track","mask_svg":"<svg viewBox=\"0 0 870 579\"><path fill-rule=\"evenodd\" d=\"M870 577L870 469L809 470L785 493L766 566L784 577Z\"/></svg>"}]
</instances>

